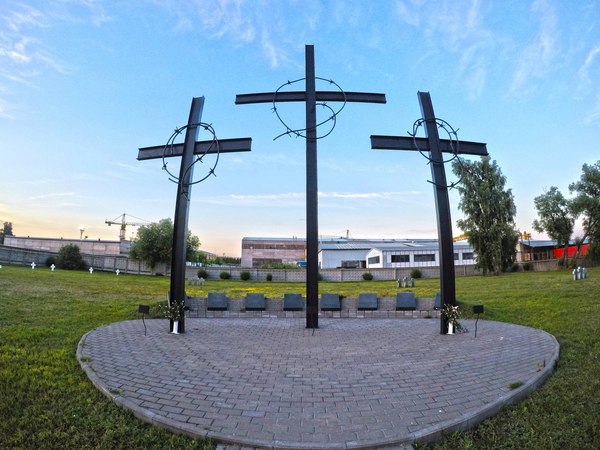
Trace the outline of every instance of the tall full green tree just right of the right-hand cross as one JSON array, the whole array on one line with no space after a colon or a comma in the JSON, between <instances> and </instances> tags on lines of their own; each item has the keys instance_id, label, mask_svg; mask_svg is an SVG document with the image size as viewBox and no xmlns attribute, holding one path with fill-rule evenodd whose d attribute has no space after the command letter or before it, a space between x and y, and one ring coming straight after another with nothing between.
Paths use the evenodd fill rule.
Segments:
<instances>
[{"instance_id":1,"label":"tall full green tree just right of the right-hand cross","mask_svg":"<svg viewBox=\"0 0 600 450\"><path fill-rule=\"evenodd\" d=\"M511 189L505 189L506 177L488 156L475 162L455 161L452 170L461 177L458 208L465 216L456 223L477 253L476 267L484 275L507 270L515 260L519 233L514 222L517 208Z\"/></svg>"}]
</instances>

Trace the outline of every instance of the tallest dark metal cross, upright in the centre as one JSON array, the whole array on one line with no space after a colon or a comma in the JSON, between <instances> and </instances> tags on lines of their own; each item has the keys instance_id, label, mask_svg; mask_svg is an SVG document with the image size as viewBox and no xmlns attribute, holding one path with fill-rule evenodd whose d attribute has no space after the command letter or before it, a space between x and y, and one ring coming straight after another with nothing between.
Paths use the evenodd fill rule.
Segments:
<instances>
[{"instance_id":1,"label":"tallest dark metal cross, upright in the centre","mask_svg":"<svg viewBox=\"0 0 600 450\"><path fill-rule=\"evenodd\" d=\"M317 189L316 102L385 103L385 94L315 90L315 50L306 46L306 89L295 92L241 94L237 105L249 103L306 103L306 328L319 328L319 225Z\"/></svg>"}]
</instances>

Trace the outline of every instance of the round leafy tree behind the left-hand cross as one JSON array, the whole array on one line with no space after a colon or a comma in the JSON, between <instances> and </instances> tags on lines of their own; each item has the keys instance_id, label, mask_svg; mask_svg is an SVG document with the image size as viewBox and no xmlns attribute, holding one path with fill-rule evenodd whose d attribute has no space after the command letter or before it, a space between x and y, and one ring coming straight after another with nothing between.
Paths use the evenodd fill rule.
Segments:
<instances>
[{"instance_id":1,"label":"round leafy tree behind the left-hand cross","mask_svg":"<svg viewBox=\"0 0 600 450\"><path fill-rule=\"evenodd\" d=\"M188 230L186 241L186 258L193 260L200 240ZM143 225L138 229L135 240L131 243L130 256L147 263L152 269L158 263L169 264L173 254L173 222L162 219L158 223Z\"/></svg>"}]
</instances>

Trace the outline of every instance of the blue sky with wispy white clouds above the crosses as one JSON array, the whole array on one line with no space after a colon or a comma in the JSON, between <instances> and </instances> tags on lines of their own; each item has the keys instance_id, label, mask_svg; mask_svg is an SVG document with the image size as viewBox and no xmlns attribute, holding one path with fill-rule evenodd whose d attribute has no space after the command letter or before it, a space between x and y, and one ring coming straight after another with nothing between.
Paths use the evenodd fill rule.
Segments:
<instances>
[{"instance_id":1,"label":"blue sky with wispy white clouds above the crosses","mask_svg":"<svg viewBox=\"0 0 600 450\"><path fill-rule=\"evenodd\" d=\"M426 160L370 149L371 134L412 130L418 91L459 139L487 143L531 231L533 198L552 185L568 195L600 159L598 24L600 2L586 0L4 0L0 221L18 236L79 237L84 225L117 239L106 219L173 217L176 185L137 149L166 143L205 96L203 121L253 148L194 186L201 248L239 255L244 236L304 236L304 141L273 140L285 130L271 105L234 101L302 78L313 44L318 77L387 96L347 104L319 141L320 234L437 236ZM280 113L298 127L303 108ZM455 222L456 192L451 203Z\"/></svg>"}]
</instances>

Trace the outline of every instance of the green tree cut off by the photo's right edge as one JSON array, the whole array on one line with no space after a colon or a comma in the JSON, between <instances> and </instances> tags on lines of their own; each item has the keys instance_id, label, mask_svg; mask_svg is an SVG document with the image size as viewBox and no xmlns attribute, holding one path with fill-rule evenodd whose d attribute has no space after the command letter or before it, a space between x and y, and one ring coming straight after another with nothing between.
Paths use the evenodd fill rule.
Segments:
<instances>
[{"instance_id":1,"label":"green tree cut off by the photo's right edge","mask_svg":"<svg viewBox=\"0 0 600 450\"><path fill-rule=\"evenodd\" d=\"M571 200L571 211L575 217L582 217L583 232L581 242L589 239L589 256L600 261L600 161L584 164L579 181L569 185L575 194Z\"/></svg>"}]
</instances>

